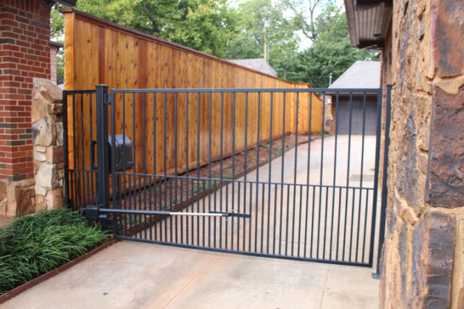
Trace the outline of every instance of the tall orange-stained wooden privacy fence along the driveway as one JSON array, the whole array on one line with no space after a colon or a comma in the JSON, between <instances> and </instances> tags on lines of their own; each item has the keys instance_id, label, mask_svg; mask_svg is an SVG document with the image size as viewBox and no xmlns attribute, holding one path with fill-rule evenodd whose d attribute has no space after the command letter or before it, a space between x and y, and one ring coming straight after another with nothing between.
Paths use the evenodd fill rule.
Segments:
<instances>
[{"instance_id":1,"label":"tall orange-stained wooden privacy fence along the driveway","mask_svg":"<svg viewBox=\"0 0 464 309\"><path fill-rule=\"evenodd\" d=\"M292 83L256 72L83 12L72 9L64 9L61 12L65 14L65 90L94 90L97 84L106 84L110 89L116 90L310 87L306 83ZM285 112L283 112L284 96ZM221 100L224 106L222 113ZM84 174L90 173L89 175L92 175L91 141L97 136L95 104L94 93L67 96L68 166L69 169L82 170ZM219 157L221 150L223 156L231 154L234 105L235 151L242 151L245 147L256 147L258 131L260 143L269 140L270 135L274 138L283 133L295 133L296 119L299 119L299 133L322 131L322 100L310 92L258 94L250 89L249 94L117 93L115 102L110 108L115 108L116 133L122 134L124 131L135 147L134 172L142 172L143 169L154 171L156 164L156 173L159 173L164 171L165 159L162 154L165 150L169 154L166 169L168 171L174 169L177 159L178 172L185 170L185 162L190 162L189 167L192 168L197 162L208 163L209 156L212 160ZM245 123L245 110L247 110L247 123ZM221 117L224 122L222 149L220 149ZM175 118L178 121L175 121ZM258 119L260 119L259 123ZM245 127L247 127L247 145L245 145ZM176 144L175 131L177 131ZM210 145L209 139L206 138L209 131L211 131ZM160 142L154 147L155 140L163 139L166 139L166 149L164 143ZM177 158L174 158L174 149ZM70 179L70 181L74 180Z\"/></svg>"}]
</instances>

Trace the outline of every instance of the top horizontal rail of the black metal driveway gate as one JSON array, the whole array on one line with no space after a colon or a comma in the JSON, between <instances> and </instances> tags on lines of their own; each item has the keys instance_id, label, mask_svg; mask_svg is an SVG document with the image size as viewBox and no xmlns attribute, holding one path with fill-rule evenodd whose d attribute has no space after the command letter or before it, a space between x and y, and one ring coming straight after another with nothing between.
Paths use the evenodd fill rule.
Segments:
<instances>
[{"instance_id":1,"label":"top horizontal rail of the black metal driveway gate","mask_svg":"<svg viewBox=\"0 0 464 309\"><path fill-rule=\"evenodd\" d=\"M188 93L188 92L322 92L324 94L381 94L382 88L168 88L112 89L112 93Z\"/></svg>"}]
</instances>

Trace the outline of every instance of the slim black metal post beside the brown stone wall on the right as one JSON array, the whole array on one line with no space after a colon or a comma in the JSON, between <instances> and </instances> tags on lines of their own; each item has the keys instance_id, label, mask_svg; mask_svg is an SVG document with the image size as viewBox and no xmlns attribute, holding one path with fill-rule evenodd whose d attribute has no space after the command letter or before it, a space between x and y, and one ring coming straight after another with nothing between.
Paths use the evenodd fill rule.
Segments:
<instances>
[{"instance_id":1,"label":"slim black metal post beside the brown stone wall on the right","mask_svg":"<svg viewBox=\"0 0 464 309\"><path fill-rule=\"evenodd\" d=\"M379 225L379 248L377 253L376 272L372 274L374 278L380 278L380 258L382 253L383 241L385 240L385 222L386 208L388 199L388 147L390 146L390 120L392 113L392 85L387 85L387 101L385 110L385 140L383 145L383 174L382 174L382 201L380 208L380 225Z\"/></svg>"}]
</instances>

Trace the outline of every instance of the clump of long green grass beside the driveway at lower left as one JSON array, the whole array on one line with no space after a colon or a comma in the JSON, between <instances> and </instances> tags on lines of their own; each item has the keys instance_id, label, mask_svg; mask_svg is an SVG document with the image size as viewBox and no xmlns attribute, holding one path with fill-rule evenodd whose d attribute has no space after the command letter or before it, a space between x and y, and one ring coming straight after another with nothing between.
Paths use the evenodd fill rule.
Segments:
<instances>
[{"instance_id":1,"label":"clump of long green grass beside the driveway at lower left","mask_svg":"<svg viewBox=\"0 0 464 309\"><path fill-rule=\"evenodd\" d=\"M0 229L0 294L82 256L109 236L65 208L16 219Z\"/></svg>"}]
</instances>

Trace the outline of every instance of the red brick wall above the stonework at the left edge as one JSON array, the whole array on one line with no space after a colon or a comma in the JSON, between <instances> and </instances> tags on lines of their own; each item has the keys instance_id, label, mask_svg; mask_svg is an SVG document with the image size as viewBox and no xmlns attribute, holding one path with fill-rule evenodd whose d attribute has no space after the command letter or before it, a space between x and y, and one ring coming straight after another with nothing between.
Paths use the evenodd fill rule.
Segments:
<instances>
[{"instance_id":1,"label":"red brick wall above the stonework at the left edge","mask_svg":"<svg viewBox=\"0 0 464 309\"><path fill-rule=\"evenodd\" d=\"M33 78L50 78L50 8L0 0L0 179L32 178Z\"/></svg>"}]
</instances>

